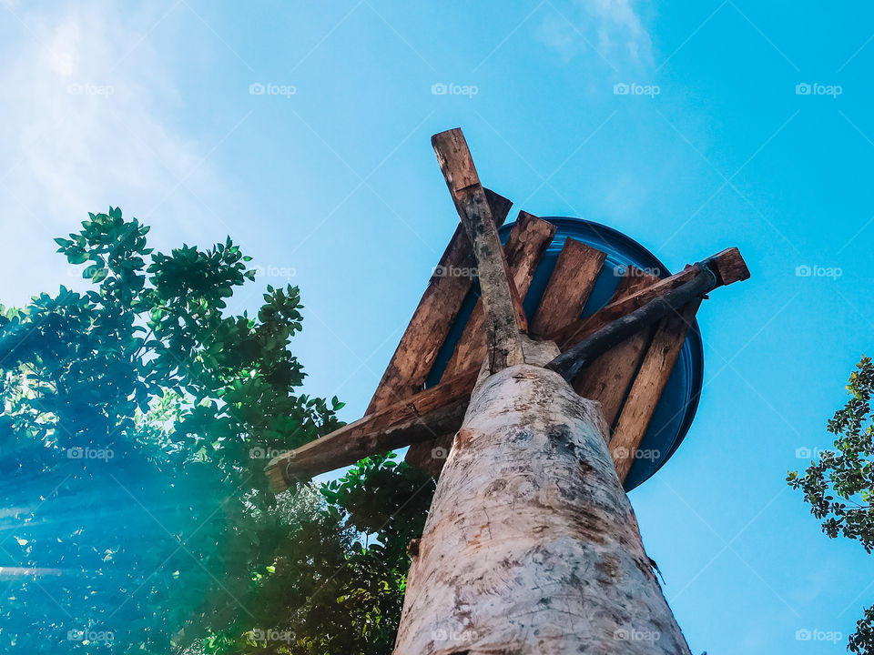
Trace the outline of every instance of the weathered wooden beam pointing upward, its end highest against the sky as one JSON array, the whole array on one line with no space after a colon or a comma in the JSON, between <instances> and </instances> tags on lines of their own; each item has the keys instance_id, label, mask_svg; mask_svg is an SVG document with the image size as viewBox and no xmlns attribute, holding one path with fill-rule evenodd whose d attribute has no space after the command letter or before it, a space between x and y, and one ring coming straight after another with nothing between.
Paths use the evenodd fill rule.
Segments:
<instances>
[{"instance_id":1,"label":"weathered wooden beam pointing upward, its end highest against the sky","mask_svg":"<svg viewBox=\"0 0 874 655\"><path fill-rule=\"evenodd\" d=\"M527 329L522 300L503 256L471 151L460 129L431 138L434 152L452 200L473 243L485 314L488 356L486 369L493 374L524 362L522 334Z\"/></svg>"}]
</instances>

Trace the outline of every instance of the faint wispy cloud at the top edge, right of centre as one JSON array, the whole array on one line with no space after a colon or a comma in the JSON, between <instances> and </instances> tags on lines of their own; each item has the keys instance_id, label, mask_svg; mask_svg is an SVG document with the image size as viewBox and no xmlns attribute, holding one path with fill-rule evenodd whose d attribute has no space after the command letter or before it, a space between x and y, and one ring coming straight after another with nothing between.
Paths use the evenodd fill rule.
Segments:
<instances>
[{"instance_id":1,"label":"faint wispy cloud at the top edge, right of centre","mask_svg":"<svg viewBox=\"0 0 874 655\"><path fill-rule=\"evenodd\" d=\"M620 70L652 63L652 41L631 0L574 0L546 11L537 37L565 62L588 53Z\"/></svg>"}]
</instances>

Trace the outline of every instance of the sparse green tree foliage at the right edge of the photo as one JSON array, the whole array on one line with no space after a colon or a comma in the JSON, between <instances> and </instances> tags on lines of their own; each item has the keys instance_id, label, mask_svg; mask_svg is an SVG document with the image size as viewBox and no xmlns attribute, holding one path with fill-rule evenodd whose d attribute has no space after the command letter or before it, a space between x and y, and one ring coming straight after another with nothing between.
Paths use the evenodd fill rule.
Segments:
<instances>
[{"instance_id":1,"label":"sparse green tree foliage at the right edge of the photo","mask_svg":"<svg viewBox=\"0 0 874 655\"><path fill-rule=\"evenodd\" d=\"M847 389L849 401L828 421L828 431L837 437L835 449L822 452L804 475L790 471L787 480L790 487L804 492L823 532L832 539L856 539L870 553L874 549L874 365L870 358L861 358ZM874 606L859 619L848 650L874 653Z\"/></svg>"}]
</instances>

